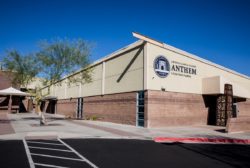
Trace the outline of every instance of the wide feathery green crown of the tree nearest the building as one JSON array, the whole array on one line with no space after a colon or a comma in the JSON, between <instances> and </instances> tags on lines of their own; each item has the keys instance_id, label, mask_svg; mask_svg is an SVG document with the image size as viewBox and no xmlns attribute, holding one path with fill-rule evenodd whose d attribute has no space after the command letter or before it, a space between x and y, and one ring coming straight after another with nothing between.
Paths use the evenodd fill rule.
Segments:
<instances>
[{"instance_id":1,"label":"wide feathery green crown of the tree nearest the building","mask_svg":"<svg viewBox=\"0 0 250 168\"><path fill-rule=\"evenodd\" d=\"M82 39L43 41L40 47L37 59L42 70L41 74L45 78L45 85L51 85L63 76L89 65L90 45ZM74 77L70 79L72 82L89 82L91 71L81 73L80 79L76 80Z\"/></svg>"}]
</instances>

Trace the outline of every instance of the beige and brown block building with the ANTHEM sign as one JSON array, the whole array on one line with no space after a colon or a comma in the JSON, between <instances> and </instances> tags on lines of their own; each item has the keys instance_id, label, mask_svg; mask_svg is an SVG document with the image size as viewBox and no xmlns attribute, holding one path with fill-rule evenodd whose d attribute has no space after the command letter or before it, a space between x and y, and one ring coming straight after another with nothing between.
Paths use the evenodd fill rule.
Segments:
<instances>
[{"instance_id":1,"label":"beige and brown block building with the ANTHEM sign","mask_svg":"<svg viewBox=\"0 0 250 168\"><path fill-rule=\"evenodd\" d=\"M139 40L91 64L91 83L68 84L80 70L44 87L57 98L53 113L144 127L250 121L248 76L133 35Z\"/></svg>"}]
</instances>

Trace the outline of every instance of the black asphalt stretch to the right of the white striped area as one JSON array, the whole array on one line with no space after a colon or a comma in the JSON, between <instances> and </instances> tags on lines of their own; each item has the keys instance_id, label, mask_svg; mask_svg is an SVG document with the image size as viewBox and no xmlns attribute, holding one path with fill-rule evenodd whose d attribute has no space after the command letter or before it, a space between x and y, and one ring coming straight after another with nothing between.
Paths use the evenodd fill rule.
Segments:
<instances>
[{"instance_id":1,"label":"black asphalt stretch to the right of the white striped area","mask_svg":"<svg viewBox=\"0 0 250 168\"><path fill-rule=\"evenodd\" d=\"M66 139L99 167L226 168L250 167L250 146L157 144L145 140Z\"/></svg>"}]
</instances>

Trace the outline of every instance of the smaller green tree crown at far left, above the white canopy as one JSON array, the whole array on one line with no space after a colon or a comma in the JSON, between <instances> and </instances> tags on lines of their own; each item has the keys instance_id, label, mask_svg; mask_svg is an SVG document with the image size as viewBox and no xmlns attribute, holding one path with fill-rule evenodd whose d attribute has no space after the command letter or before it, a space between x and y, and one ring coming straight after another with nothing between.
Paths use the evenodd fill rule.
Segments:
<instances>
[{"instance_id":1,"label":"smaller green tree crown at far left, above the white canopy","mask_svg":"<svg viewBox=\"0 0 250 168\"><path fill-rule=\"evenodd\" d=\"M13 85L25 88L39 72L34 55L21 55L16 50L7 51L3 67L9 73Z\"/></svg>"}]
</instances>

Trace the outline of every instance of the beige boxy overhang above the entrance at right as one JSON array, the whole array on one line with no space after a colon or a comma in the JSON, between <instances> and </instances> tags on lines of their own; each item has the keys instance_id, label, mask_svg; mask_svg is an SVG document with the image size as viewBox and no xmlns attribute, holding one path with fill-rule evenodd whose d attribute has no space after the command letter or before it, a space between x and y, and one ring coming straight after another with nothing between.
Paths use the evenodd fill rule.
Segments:
<instances>
[{"instance_id":1,"label":"beige boxy overhang above the entrance at right","mask_svg":"<svg viewBox=\"0 0 250 168\"><path fill-rule=\"evenodd\" d=\"M224 85L231 84L233 86L233 95L235 97L250 98L250 88L243 86L238 82L233 82L222 76L213 76L202 79L202 94L215 95L224 94Z\"/></svg>"}]
</instances>

